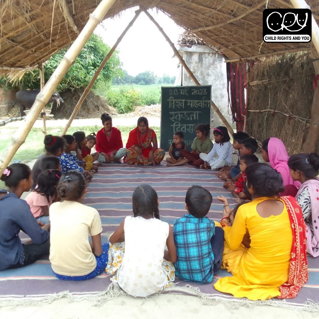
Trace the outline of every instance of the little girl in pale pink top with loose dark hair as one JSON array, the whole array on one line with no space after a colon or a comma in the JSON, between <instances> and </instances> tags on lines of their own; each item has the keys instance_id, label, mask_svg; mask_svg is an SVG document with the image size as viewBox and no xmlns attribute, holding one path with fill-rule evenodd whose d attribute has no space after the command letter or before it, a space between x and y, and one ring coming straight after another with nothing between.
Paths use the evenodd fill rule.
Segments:
<instances>
[{"instance_id":1,"label":"little girl in pale pink top with loose dark hair","mask_svg":"<svg viewBox=\"0 0 319 319\"><path fill-rule=\"evenodd\" d=\"M56 185L61 177L56 169L43 171L37 178L37 187L26 197L26 202L37 221L48 224L49 207L56 199Z\"/></svg>"}]
</instances>

